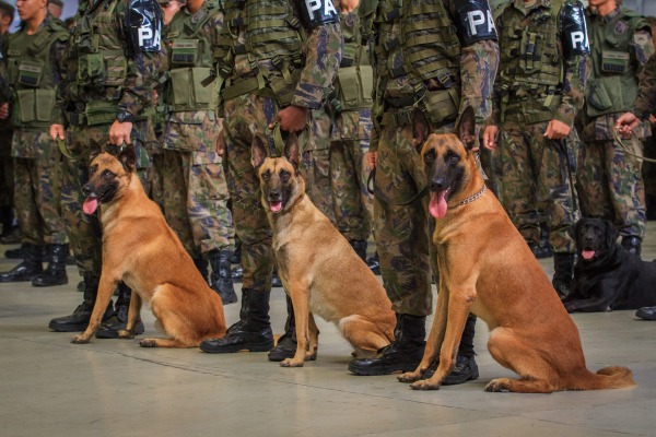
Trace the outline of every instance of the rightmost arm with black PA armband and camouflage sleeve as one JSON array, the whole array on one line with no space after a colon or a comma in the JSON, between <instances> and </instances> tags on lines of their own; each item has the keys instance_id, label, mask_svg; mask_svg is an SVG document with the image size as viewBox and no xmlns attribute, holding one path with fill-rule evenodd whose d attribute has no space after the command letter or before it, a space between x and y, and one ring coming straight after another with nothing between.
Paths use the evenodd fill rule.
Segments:
<instances>
[{"instance_id":1,"label":"rightmost arm with black PA armband and camouflage sleeve","mask_svg":"<svg viewBox=\"0 0 656 437\"><path fill-rule=\"evenodd\" d=\"M563 59L563 98L553 119L572 128L583 107L589 75L589 45L583 5L566 2L559 15L560 51Z\"/></svg>"}]
</instances>

